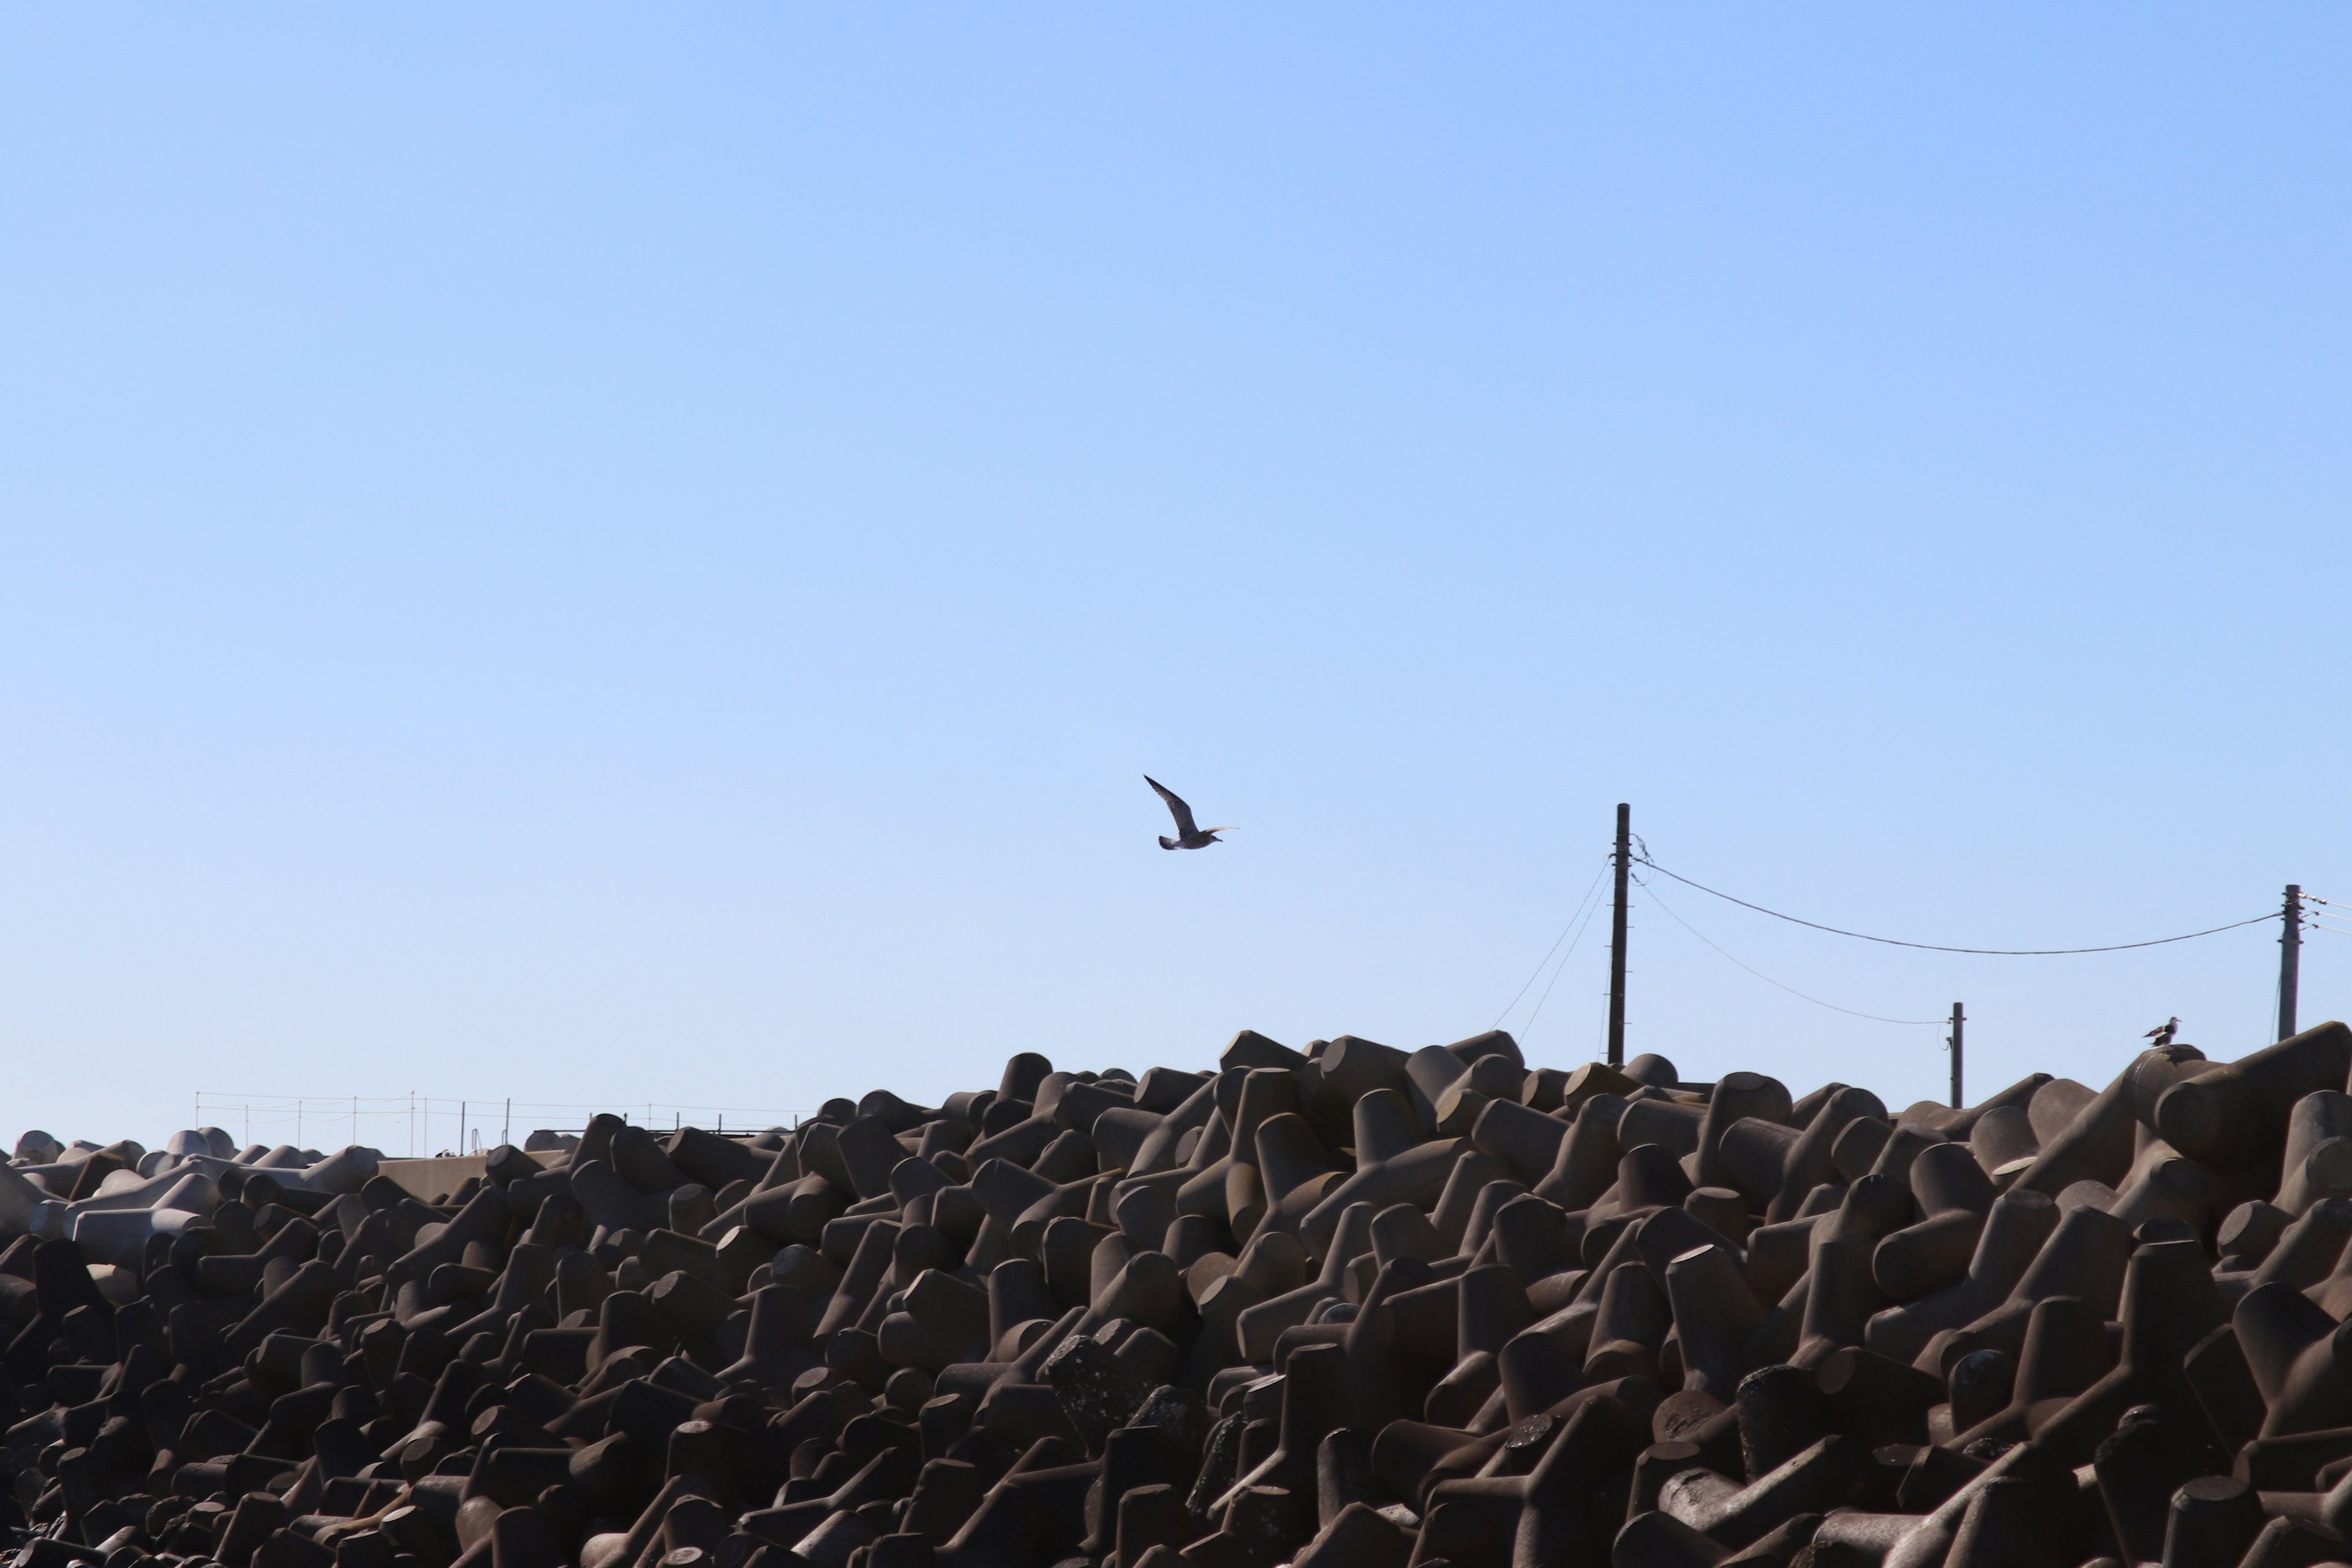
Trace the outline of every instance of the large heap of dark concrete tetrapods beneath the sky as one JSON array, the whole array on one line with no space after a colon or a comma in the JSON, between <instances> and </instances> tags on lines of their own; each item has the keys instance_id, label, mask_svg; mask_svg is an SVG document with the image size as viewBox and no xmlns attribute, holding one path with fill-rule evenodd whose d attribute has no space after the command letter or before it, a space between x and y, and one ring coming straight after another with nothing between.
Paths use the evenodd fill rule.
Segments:
<instances>
[{"instance_id":1,"label":"large heap of dark concrete tetrapods beneath the sky","mask_svg":"<svg viewBox=\"0 0 2352 1568\"><path fill-rule=\"evenodd\" d=\"M19 1568L2352 1559L2352 1032L1889 1114L1508 1034L0 1168ZM543 1145L543 1147L541 1147ZM706 1561L708 1559L708 1561Z\"/></svg>"}]
</instances>

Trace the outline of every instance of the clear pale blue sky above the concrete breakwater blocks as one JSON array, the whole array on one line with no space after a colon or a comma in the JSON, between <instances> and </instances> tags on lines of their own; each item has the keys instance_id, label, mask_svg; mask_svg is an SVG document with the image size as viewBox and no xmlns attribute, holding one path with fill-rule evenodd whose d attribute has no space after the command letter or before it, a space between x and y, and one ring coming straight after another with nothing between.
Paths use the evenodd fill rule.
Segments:
<instances>
[{"instance_id":1,"label":"clear pale blue sky above the concrete breakwater blocks","mask_svg":"<svg viewBox=\"0 0 2352 1568\"><path fill-rule=\"evenodd\" d=\"M9 12L5 1131L1454 1039L1618 799L1931 943L2352 900L2347 42ZM1240 832L1160 853L1143 771ZM1689 1077L1945 1065L1668 910L1846 1009L1964 999L1985 1088L2267 1039L2274 929L1962 959L1663 884L1630 1041ZM1602 936L1531 1056L1592 1056ZM2312 938L2307 1020L2347 964Z\"/></svg>"}]
</instances>

